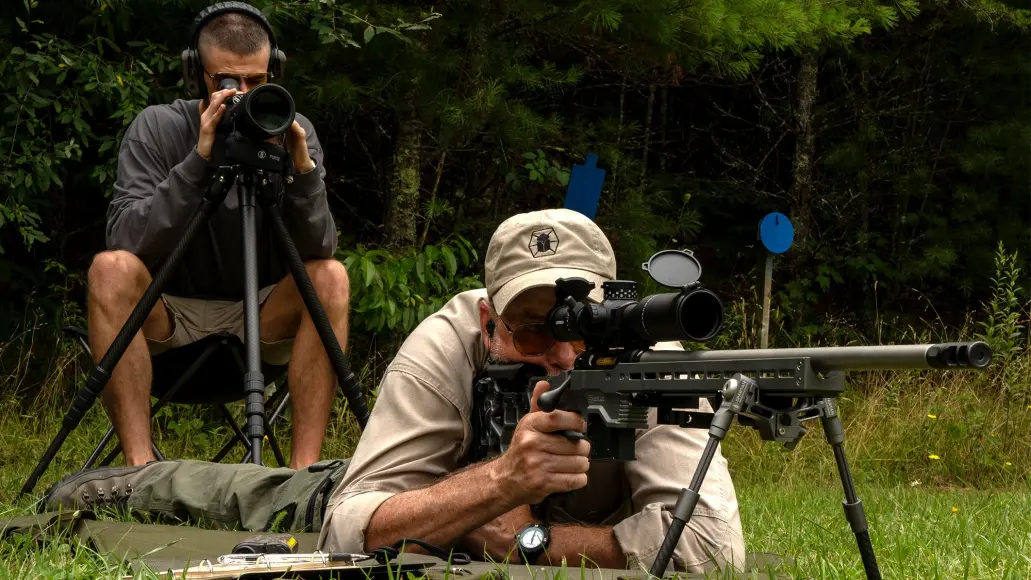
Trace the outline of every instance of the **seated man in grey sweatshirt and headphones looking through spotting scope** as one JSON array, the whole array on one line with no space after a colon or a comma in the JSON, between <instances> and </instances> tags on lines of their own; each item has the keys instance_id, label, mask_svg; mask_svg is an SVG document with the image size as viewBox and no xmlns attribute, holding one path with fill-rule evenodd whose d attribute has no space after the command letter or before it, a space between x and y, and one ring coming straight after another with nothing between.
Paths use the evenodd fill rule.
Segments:
<instances>
[{"instance_id":1,"label":"seated man in grey sweatshirt and headphones looking through spotting scope","mask_svg":"<svg viewBox=\"0 0 1031 580\"><path fill-rule=\"evenodd\" d=\"M108 208L107 248L89 273L90 347L96 361L139 302L152 275L168 258L214 174L215 128L226 99L265 82L271 42L260 12L223 7L196 39L203 70L192 78L201 95L147 107L122 140L114 196ZM193 42L193 40L191 40ZM188 71L184 71L189 75ZM233 77L239 91L215 91ZM188 83L189 86L189 83ZM326 200L323 150L311 123L298 114L286 143L296 174L281 179L287 227L341 345L347 341L346 269L333 260L336 227ZM277 176L273 179L280 181ZM151 355L218 332L243 338L242 233L236 186L187 248L141 332L103 389L104 407L130 466L153 460L149 401ZM293 404L290 465L319 460L335 393L335 375L286 263L261 235L258 210L258 283L262 357L290 362Z\"/></svg>"}]
</instances>

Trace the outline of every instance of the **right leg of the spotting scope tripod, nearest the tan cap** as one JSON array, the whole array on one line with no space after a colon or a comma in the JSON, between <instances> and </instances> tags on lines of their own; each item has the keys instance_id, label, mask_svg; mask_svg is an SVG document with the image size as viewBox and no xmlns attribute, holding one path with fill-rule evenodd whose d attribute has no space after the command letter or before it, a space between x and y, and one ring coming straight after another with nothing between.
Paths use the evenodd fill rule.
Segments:
<instances>
[{"instance_id":1,"label":"right leg of the spotting scope tripod, nearest the tan cap","mask_svg":"<svg viewBox=\"0 0 1031 580\"><path fill-rule=\"evenodd\" d=\"M352 372L351 367L347 365L347 356L343 353L340 342L336 339L336 334L333 332L333 327L329 323L326 309L323 308L322 302L319 300L319 295L315 294L315 288L311 284L308 271L304 268L304 261L301 260L301 254L297 251L297 246L294 245L294 240L287 229L287 223L282 219L282 210L279 208L278 201L276 201L271 187L268 185L263 187L261 203L262 209L272 219L272 233L275 241L286 254L287 266L290 268L290 273L294 276L294 282L297 284L297 289L301 293L301 299L304 300L304 306L307 308L308 315L311 317L311 321L319 332L319 338L322 339L323 347L326 348L326 352L329 354L330 363L332 363L333 370L336 372L336 380L340 385L340 390L343 391L343 396L347 400L351 412L358 419L358 425L364 430L365 423L369 420L369 408L365 402L365 396L362 395L362 388L358 384L358 377L355 376L355 373Z\"/></svg>"}]
</instances>

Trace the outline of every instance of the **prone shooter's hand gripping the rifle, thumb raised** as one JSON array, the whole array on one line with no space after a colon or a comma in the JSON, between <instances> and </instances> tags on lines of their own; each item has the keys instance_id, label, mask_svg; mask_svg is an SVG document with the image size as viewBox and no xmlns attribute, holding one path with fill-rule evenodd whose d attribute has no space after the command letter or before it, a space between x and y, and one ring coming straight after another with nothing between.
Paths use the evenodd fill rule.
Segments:
<instances>
[{"instance_id":1,"label":"prone shooter's hand gripping the rifle, thumb raised","mask_svg":"<svg viewBox=\"0 0 1031 580\"><path fill-rule=\"evenodd\" d=\"M587 485L591 444L554 433L585 433L587 421L570 411L541 411L537 398L548 388L547 381L534 385L530 412L516 425L508 450L493 464L492 476L509 494L512 505L537 504L552 493Z\"/></svg>"}]
</instances>

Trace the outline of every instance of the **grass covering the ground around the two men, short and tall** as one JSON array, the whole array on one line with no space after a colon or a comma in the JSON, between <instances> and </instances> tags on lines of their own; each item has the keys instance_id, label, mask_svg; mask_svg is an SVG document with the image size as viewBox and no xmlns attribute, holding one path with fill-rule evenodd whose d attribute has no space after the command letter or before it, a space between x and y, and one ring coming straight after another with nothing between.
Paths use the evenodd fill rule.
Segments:
<instances>
[{"instance_id":1,"label":"grass covering the ground around the two men, short and tall","mask_svg":"<svg viewBox=\"0 0 1031 580\"><path fill-rule=\"evenodd\" d=\"M907 342L955 340L957 334L973 333L925 334ZM0 396L0 517L27 513L29 503L14 502L15 493L78 386L84 369L67 352L73 350L43 365L46 386L28 393L32 397L23 386L31 382L25 380L27 365L0 369L0 376L10 377L0 385L6 387L0 394L7 394ZM375 382L370 368L363 368L363 384ZM839 403L846 452L885 578L1031 578L1028 344L1002 352L984 373L854 373ZM324 456L347 456L358 431L339 398L332 416ZM155 439L169 456L207 458L228 436L220 421L210 411L169 407L155 421ZM99 406L91 409L36 492L76 471L107 424ZM771 571L790 577L861 578L833 455L819 421L807 425L810 433L793 451L740 427L724 442L747 549L790 556L794 566ZM279 427L277 434L289 449L289 430ZM265 462L273 463L267 446ZM0 562L0 580L109 578L121 572L97 554L60 543L5 541Z\"/></svg>"}]
</instances>

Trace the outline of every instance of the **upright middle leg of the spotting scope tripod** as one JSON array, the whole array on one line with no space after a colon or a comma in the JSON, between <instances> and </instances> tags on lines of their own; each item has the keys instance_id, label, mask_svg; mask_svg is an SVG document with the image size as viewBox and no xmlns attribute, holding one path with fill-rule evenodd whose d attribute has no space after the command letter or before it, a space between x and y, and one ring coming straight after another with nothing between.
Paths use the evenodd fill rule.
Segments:
<instances>
[{"instance_id":1,"label":"upright middle leg of the spotting scope tripod","mask_svg":"<svg viewBox=\"0 0 1031 580\"><path fill-rule=\"evenodd\" d=\"M243 233L243 348L246 372L246 435L251 442L251 462L262 465L261 444L265 438L265 377L261 370L261 321L258 308L258 203L255 187L264 187L264 172L240 173L240 221Z\"/></svg>"}]
</instances>

